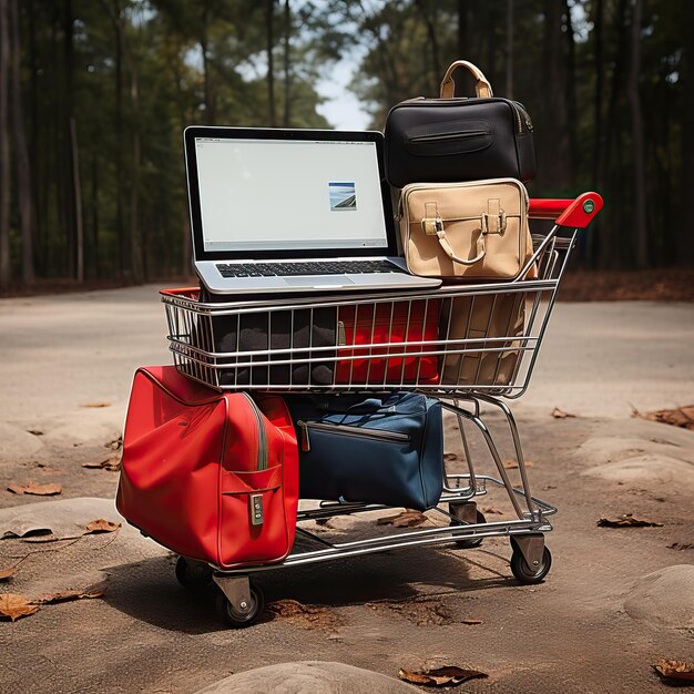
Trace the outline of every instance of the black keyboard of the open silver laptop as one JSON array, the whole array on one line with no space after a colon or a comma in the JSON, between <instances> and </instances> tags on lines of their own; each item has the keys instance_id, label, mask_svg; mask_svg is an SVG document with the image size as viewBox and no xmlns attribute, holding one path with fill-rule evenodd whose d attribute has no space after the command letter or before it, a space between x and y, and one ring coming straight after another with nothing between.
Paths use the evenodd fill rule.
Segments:
<instances>
[{"instance_id":1,"label":"black keyboard of the open silver laptop","mask_svg":"<svg viewBox=\"0 0 694 694\"><path fill-rule=\"evenodd\" d=\"M288 277L293 275L361 275L401 273L388 261L315 261L312 263L217 263L222 277Z\"/></svg>"}]
</instances>

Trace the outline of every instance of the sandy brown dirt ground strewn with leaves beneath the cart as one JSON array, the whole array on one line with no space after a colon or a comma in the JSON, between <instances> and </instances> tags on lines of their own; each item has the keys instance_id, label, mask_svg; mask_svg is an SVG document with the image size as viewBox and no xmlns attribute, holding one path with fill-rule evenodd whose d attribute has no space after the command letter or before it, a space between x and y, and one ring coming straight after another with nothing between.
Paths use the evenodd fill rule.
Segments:
<instances>
[{"instance_id":1,"label":"sandy brown dirt ground strewn with leaves beneath the cart","mask_svg":"<svg viewBox=\"0 0 694 694\"><path fill-rule=\"evenodd\" d=\"M119 521L118 473L82 466L112 455L134 368L170 361L155 288L4 299L0 325L0 537L20 511L78 535L1 539L0 575L16 571L0 593L35 600L105 581L100 598L0 622L0 692L188 693L320 660L392 677L445 664L488 674L458 692L649 693L665 691L660 657L694 660L694 432L631 417L694 402L692 304L558 305L531 388L510 404L532 492L559 509L544 582L512 578L504 538L401 549L257 575L268 609L243 631L218 621L212 588L184 590L175 558L134 529L70 532ZM509 459L504 421L483 416ZM477 471L494 473L469 433ZM459 469L452 421L447 451ZM7 489L32 481L62 492ZM479 508L489 521L510 517L491 486ZM598 525L629 513L656 524ZM339 518L318 532L344 540L379 527Z\"/></svg>"}]
</instances>

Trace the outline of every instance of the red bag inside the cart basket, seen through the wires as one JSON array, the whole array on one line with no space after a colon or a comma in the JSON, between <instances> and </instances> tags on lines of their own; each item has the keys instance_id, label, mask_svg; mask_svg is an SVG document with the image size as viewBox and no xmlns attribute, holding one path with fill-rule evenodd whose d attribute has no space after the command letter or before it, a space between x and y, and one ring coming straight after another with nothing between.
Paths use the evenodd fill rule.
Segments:
<instances>
[{"instance_id":1,"label":"red bag inside the cart basket, seen through the wires","mask_svg":"<svg viewBox=\"0 0 694 694\"><path fill-rule=\"evenodd\" d=\"M340 306L338 340L344 345L365 345L359 349L339 348L335 369L336 384L438 384L440 302L416 299ZM344 333L344 341L340 333ZM402 343L431 341L432 345ZM370 347L387 344L391 347ZM411 354L406 357L375 358L374 355ZM360 357L360 358L347 358Z\"/></svg>"}]
</instances>

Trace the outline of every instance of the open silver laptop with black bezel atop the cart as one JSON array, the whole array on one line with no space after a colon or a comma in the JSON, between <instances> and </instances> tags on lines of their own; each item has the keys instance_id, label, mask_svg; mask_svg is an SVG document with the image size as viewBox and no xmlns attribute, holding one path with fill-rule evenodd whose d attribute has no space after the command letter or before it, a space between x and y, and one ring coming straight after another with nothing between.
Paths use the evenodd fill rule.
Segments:
<instances>
[{"instance_id":1,"label":"open silver laptop with black bezel atop the cart","mask_svg":"<svg viewBox=\"0 0 694 694\"><path fill-rule=\"evenodd\" d=\"M193 259L215 294L431 288L398 257L376 131L190 126Z\"/></svg>"}]
</instances>

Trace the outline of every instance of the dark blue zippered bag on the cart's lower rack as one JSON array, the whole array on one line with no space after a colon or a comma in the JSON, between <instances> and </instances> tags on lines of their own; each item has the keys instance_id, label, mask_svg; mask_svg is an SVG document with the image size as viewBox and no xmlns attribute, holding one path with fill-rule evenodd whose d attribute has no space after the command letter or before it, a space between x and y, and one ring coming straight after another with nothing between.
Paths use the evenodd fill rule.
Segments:
<instances>
[{"instance_id":1,"label":"dark blue zippered bag on the cart's lower rack","mask_svg":"<svg viewBox=\"0 0 694 694\"><path fill-rule=\"evenodd\" d=\"M299 440L299 498L423 511L443 484L441 404L417 392L286 396Z\"/></svg>"}]
</instances>

